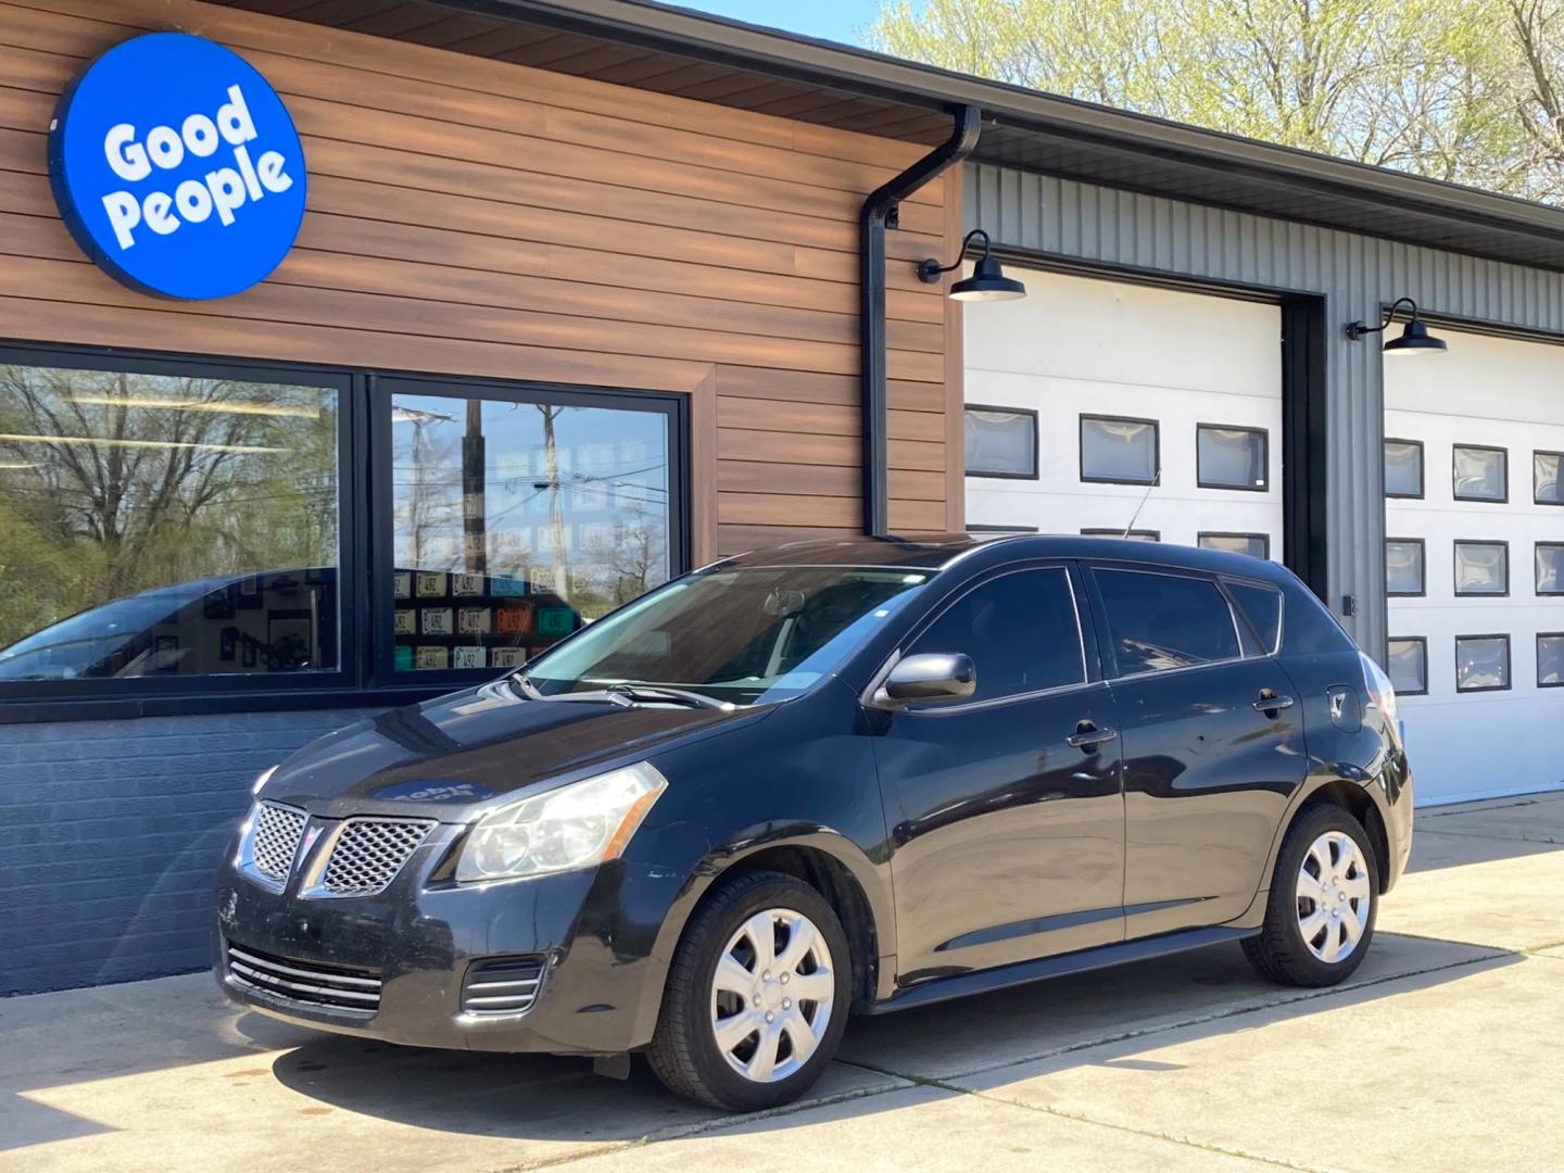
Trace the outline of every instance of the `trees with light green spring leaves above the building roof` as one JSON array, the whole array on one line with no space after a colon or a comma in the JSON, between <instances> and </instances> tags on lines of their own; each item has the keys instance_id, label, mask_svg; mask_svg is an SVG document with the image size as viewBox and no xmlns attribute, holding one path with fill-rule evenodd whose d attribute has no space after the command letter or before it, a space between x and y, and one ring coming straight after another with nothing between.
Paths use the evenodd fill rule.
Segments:
<instances>
[{"instance_id":1,"label":"trees with light green spring leaves above the building roof","mask_svg":"<svg viewBox=\"0 0 1564 1173\"><path fill-rule=\"evenodd\" d=\"M1564 0L890 0L884 52L1536 199L1564 194Z\"/></svg>"}]
</instances>

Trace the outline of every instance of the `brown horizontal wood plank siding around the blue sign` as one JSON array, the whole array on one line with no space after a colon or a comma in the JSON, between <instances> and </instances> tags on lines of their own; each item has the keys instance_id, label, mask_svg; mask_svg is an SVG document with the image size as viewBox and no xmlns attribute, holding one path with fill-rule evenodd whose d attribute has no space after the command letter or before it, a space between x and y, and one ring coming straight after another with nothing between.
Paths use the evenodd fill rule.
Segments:
<instances>
[{"instance_id":1,"label":"brown horizontal wood plank siding around the blue sign","mask_svg":"<svg viewBox=\"0 0 1564 1173\"><path fill-rule=\"evenodd\" d=\"M61 89L166 28L244 55L305 144L297 246L217 302L117 285L48 191ZM698 558L849 533L857 210L924 150L196 0L0 0L0 336L683 393ZM960 324L910 264L959 205L951 174L887 246L899 532L962 524Z\"/></svg>"}]
</instances>

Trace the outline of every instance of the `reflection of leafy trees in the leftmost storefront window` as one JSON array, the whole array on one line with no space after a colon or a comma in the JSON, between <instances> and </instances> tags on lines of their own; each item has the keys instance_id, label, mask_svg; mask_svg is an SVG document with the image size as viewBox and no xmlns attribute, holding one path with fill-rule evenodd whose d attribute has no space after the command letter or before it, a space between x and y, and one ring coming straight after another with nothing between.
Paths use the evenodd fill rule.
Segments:
<instances>
[{"instance_id":1,"label":"reflection of leafy trees in the leftmost storefront window","mask_svg":"<svg viewBox=\"0 0 1564 1173\"><path fill-rule=\"evenodd\" d=\"M0 647L192 579L336 565L322 388L0 364Z\"/></svg>"}]
</instances>

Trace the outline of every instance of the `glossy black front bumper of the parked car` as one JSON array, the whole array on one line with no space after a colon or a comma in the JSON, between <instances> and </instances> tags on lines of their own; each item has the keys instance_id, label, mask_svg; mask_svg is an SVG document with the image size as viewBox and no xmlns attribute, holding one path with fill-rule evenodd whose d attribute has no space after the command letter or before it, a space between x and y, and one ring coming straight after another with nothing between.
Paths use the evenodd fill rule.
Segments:
<instances>
[{"instance_id":1,"label":"glossy black front bumper of the parked car","mask_svg":"<svg viewBox=\"0 0 1564 1173\"><path fill-rule=\"evenodd\" d=\"M615 862L486 885L430 882L460 827L439 826L375 896L300 896L300 868L282 891L230 862L217 877L213 956L236 1003L275 1018L414 1046L552 1054L618 1054L655 1029L668 959L655 943L682 888L671 871ZM256 988L231 949L303 974L378 981L369 1009ZM536 998L513 1012L463 1010L469 971L536 959ZM352 979L349 979L352 981ZM330 981L328 984L336 984ZM350 988L372 988L363 981ZM361 999L371 1001L371 999Z\"/></svg>"}]
</instances>

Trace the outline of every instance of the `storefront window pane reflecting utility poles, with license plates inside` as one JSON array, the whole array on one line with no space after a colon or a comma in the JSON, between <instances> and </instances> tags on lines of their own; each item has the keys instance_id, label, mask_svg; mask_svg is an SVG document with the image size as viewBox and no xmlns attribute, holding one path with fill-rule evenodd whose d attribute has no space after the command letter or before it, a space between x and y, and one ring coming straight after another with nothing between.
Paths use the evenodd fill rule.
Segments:
<instances>
[{"instance_id":1,"label":"storefront window pane reflecting utility poles, with license plates inside","mask_svg":"<svg viewBox=\"0 0 1564 1173\"><path fill-rule=\"evenodd\" d=\"M515 668L673 574L669 414L397 386L396 671Z\"/></svg>"}]
</instances>

